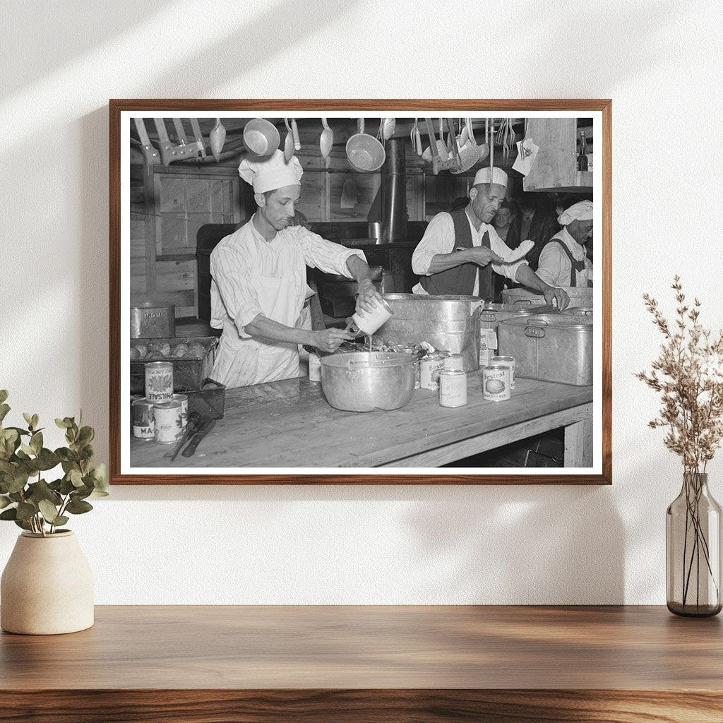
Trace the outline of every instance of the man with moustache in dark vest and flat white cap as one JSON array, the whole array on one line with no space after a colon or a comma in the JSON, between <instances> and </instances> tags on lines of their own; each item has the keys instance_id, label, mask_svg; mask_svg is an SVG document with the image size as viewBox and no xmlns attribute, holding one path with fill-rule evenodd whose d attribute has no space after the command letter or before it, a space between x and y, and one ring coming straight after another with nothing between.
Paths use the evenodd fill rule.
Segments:
<instances>
[{"instance_id":1,"label":"man with moustache in dark vest and flat white cap","mask_svg":"<svg viewBox=\"0 0 723 723\"><path fill-rule=\"evenodd\" d=\"M539 291L547 304L555 299L558 308L568 306L565 291L544 283L524 259L509 261L513 250L491 225L506 189L505 171L486 166L474 176L466 208L432 218L412 255L412 270L422 276L414 294L472 295L492 301L494 270Z\"/></svg>"}]
</instances>

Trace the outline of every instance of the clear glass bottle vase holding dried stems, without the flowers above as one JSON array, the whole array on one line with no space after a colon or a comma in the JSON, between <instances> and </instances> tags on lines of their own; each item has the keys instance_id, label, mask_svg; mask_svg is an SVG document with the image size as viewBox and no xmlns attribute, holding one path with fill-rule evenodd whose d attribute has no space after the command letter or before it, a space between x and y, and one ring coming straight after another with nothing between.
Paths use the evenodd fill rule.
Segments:
<instances>
[{"instance_id":1,"label":"clear glass bottle vase holding dried stems, without the flowers above","mask_svg":"<svg viewBox=\"0 0 723 723\"><path fill-rule=\"evenodd\" d=\"M667 606L675 615L721 611L721 508L708 475L686 472L665 515Z\"/></svg>"}]
</instances>

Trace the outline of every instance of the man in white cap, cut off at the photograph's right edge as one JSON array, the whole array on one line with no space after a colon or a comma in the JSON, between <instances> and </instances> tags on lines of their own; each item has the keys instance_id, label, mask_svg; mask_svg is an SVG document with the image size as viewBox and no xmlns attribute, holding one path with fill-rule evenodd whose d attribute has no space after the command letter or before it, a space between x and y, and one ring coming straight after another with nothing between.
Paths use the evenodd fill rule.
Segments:
<instances>
[{"instance_id":1,"label":"man in white cap, cut off at the photograph's right edge","mask_svg":"<svg viewBox=\"0 0 723 723\"><path fill-rule=\"evenodd\" d=\"M552 286L592 286L585 244L592 238L592 201L579 201L557 217L562 226L542 248L537 274Z\"/></svg>"}]
</instances>

